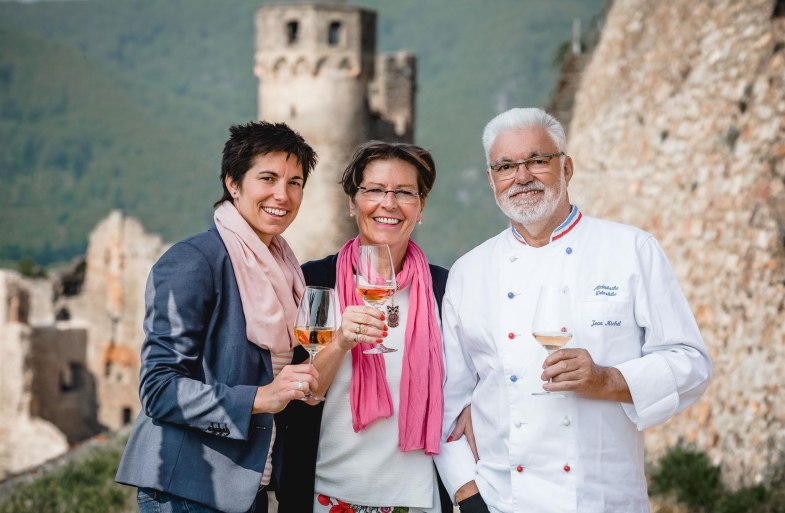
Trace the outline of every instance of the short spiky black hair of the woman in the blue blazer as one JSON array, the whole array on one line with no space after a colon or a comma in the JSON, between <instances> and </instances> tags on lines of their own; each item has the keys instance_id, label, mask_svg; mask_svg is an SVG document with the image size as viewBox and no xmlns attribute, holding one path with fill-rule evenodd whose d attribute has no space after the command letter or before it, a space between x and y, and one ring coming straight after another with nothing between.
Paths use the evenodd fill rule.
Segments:
<instances>
[{"instance_id":1,"label":"short spiky black hair of the woman in the blue blazer","mask_svg":"<svg viewBox=\"0 0 785 513\"><path fill-rule=\"evenodd\" d=\"M303 168L303 185L316 165L316 152L286 123L252 121L245 125L232 125L229 134L221 161L223 196L215 202L216 207L224 201L232 201L232 195L226 187L226 177L239 185L258 155L281 151L294 156Z\"/></svg>"}]
</instances>

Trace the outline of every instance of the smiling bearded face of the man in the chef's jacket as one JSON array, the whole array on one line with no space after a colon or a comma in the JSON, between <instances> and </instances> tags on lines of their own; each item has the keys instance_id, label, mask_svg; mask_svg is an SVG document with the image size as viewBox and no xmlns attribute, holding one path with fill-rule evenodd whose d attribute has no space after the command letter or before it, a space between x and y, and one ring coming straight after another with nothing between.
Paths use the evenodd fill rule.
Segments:
<instances>
[{"instance_id":1,"label":"smiling bearded face of the man in the chef's jacket","mask_svg":"<svg viewBox=\"0 0 785 513\"><path fill-rule=\"evenodd\" d=\"M551 155L559 150L542 127L522 128L499 134L489 152L491 164L519 161L535 155ZM489 172L488 181L496 196L496 203L515 225L554 228L570 209L567 184L572 177L572 161L564 157L551 159L545 173L532 174L523 165L512 179L501 181Z\"/></svg>"}]
</instances>

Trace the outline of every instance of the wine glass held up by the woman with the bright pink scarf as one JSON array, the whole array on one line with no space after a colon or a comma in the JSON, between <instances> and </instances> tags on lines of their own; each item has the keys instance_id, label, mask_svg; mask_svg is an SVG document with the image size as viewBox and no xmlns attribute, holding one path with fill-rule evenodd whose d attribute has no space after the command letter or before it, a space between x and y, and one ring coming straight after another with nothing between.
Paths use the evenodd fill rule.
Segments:
<instances>
[{"instance_id":1,"label":"wine glass held up by the woman with the bright pink scarf","mask_svg":"<svg viewBox=\"0 0 785 513\"><path fill-rule=\"evenodd\" d=\"M357 254L357 295L363 303L382 311L382 305L395 293L395 268L387 244L360 246ZM382 343L363 351L365 354L392 353Z\"/></svg>"}]
</instances>

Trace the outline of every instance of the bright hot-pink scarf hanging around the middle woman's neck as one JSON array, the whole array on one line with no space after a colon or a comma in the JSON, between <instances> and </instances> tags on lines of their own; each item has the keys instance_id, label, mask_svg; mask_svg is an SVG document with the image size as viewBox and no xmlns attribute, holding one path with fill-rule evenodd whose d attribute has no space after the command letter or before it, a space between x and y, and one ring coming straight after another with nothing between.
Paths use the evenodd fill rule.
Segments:
<instances>
[{"instance_id":1,"label":"bright hot-pink scarf hanging around the middle woman's neck","mask_svg":"<svg viewBox=\"0 0 785 513\"><path fill-rule=\"evenodd\" d=\"M347 242L338 253L336 281L341 311L348 305L362 304L354 285L359 246L358 237ZM406 248L403 269L396 279L399 288L410 285L398 408L398 448L401 451L424 449L426 454L439 454L444 415L442 337L436 320L428 260L411 240ZM355 432L393 413L384 356L362 352L372 346L357 344L352 349L350 402Z\"/></svg>"}]
</instances>

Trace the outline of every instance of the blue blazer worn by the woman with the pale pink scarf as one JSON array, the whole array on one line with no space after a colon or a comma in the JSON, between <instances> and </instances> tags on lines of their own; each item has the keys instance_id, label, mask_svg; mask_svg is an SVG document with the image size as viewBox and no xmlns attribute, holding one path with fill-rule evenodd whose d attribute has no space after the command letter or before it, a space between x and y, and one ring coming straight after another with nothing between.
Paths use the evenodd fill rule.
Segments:
<instances>
[{"instance_id":1,"label":"blue blazer worn by the woman with the pale pink scarf","mask_svg":"<svg viewBox=\"0 0 785 513\"><path fill-rule=\"evenodd\" d=\"M251 415L257 387L273 379L272 362L245 335L234 270L215 226L158 260L145 304L142 411L116 480L246 512L272 438L273 415Z\"/></svg>"}]
</instances>

